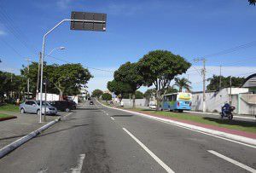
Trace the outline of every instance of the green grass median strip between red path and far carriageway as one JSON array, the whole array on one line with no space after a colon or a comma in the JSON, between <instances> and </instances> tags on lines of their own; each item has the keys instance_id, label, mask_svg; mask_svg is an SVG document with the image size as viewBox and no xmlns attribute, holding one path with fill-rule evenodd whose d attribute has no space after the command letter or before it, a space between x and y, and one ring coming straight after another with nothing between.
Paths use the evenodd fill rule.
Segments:
<instances>
[{"instance_id":1,"label":"green grass median strip between red path and far carriageway","mask_svg":"<svg viewBox=\"0 0 256 173\"><path fill-rule=\"evenodd\" d=\"M165 111L157 112L150 109L139 109L139 108L136 108L136 109L130 108L128 110L135 111L135 112L148 113L152 115L160 115L160 116L165 116L170 118L183 119L183 120L193 121L201 124L209 124L209 125L231 129L231 130L241 130L241 131L256 133L255 122L246 122L246 121L239 121L234 119L233 120L221 119L221 118L218 118L218 116L216 118L202 117L200 115L184 113L184 112L183 113L165 112Z\"/></svg>"}]
</instances>

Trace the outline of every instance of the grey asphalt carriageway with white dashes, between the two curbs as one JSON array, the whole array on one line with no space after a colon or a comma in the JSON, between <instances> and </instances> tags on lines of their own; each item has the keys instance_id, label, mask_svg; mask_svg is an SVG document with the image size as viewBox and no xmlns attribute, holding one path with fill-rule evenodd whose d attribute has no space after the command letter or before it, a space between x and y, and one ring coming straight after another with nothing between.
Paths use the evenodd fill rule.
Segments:
<instances>
[{"instance_id":1,"label":"grey asphalt carriageway with white dashes, between the two curbs","mask_svg":"<svg viewBox=\"0 0 256 173\"><path fill-rule=\"evenodd\" d=\"M84 105L0 159L0 172L254 172L256 148ZM248 171L249 170L249 171Z\"/></svg>"}]
</instances>

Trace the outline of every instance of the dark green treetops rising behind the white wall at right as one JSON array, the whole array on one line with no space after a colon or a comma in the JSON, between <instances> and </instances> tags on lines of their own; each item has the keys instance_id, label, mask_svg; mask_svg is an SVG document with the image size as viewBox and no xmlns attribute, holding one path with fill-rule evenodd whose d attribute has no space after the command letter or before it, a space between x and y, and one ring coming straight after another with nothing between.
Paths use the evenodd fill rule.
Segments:
<instances>
[{"instance_id":1,"label":"dark green treetops rising behind the white wall at right","mask_svg":"<svg viewBox=\"0 0 256 173\"><path fill-rule=\"evenodd\" d=\"M223 77L213 75L212 78L208 78L207 81L210 84L207 85L207 90L219 90L219 80L221 78L221 88L229 88L230 87L230 78L231 78L231 86L232 87L241 87L244 83L245 78L240 77Z\"/></svg>"}]
</instances>

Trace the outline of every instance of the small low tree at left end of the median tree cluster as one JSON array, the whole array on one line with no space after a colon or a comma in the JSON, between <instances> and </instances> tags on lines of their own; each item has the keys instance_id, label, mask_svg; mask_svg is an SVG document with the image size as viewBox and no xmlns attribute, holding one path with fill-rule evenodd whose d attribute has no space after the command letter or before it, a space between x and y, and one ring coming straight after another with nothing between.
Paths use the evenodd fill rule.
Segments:
<instances>
[{"instance_id":1,"label":"small low tree at left end of the median tree cluster","mask_svg":"<svg viewBox=\"0 0 256 173\"><path fill-rule=\"evenodd\" d=\"M125 93L132 92L130 84L116 81L115 79L113 79L113 81L108 81L107 88L110 92L119 96L120 101L122 101Z\"/></svg>"}]
</instances>

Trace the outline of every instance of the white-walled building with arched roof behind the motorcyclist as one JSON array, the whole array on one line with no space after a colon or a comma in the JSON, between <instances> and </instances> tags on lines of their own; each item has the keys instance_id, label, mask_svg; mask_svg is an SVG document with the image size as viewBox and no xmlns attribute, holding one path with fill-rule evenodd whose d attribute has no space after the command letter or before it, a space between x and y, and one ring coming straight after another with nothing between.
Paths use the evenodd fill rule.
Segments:
<instances>
[{"instance_id":1,"label":"white-walled building with arched roof behind the motorcyclist","mask_svg":"<svg viewBox=\"0 0 256 173\"><path fill-rule=\"evenodd\" d=\"M202 111L203 92L192 93L192 110ZM206 92L207 112L220 112L224 102L236 107L235 113L256 116L256 73L248 76L241 88Z\"/></svg>"}]
</instances>

